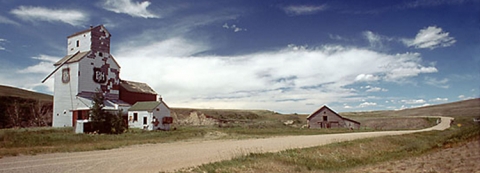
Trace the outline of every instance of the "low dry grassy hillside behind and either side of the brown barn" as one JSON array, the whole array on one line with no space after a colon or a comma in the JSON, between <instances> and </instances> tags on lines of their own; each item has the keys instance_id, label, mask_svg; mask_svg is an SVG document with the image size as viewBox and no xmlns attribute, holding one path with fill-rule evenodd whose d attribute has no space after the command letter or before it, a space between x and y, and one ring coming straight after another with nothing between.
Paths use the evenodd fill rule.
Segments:
<instances>
[{"instance_id":1,"label":"low dry grassy hillside behind and either side of the brown barn","mask_svg":"<svg viewBox=\"0 0 480 173\"><path fill-rule=\"evenodd\" d=\"M176 126L220 127L302 127L306 124L305 114L279 114L268 110L236 109L194 109L171 108ZM371 112L344 112L342 116L352 118L362 124L362 128L376 130L421 129L432 126L434 119L420 116L474 116L480 117L480 99L425 106L404 110L384 110ZM411 118L418 116L418 118Z\"/></svg>"}]
</instances>

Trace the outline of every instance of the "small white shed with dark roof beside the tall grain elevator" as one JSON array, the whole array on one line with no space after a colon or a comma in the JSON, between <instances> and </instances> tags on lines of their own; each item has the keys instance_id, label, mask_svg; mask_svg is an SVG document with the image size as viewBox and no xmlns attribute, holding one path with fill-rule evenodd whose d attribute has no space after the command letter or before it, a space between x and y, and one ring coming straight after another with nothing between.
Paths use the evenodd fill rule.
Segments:
<instances>
[{"instance_id":1,"label":"small white shed with dark roof beside the tall grain elevator","mask_svg":"<svg viewBox=\"0 0 480 173\"><path fill-rule=\"evenodd\" d=\"M173 118L162 100L135 103L128 109L128 127L144 130L170 130Z\"/></svg>"}]
</instances>

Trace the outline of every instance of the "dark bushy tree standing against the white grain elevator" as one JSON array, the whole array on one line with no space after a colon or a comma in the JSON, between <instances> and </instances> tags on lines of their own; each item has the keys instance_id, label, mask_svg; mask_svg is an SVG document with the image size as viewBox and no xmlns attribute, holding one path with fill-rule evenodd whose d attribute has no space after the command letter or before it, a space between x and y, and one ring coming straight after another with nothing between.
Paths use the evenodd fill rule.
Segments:
<instances>
[{"instance_id":1,"label":"dark bushy tree standing against the white grain elevator","mask_svg":"<svg viewBox=\"0 0 480 173\"><path fill-rule=\"evenodd\" d=\"M93 97L93 106L90 108L92 128L98 133L120 134L125 132L126 124L122 120L122 112L108 112L103 108L105 96L101 90L97 90Z\"/></svg>"}]
</instances>

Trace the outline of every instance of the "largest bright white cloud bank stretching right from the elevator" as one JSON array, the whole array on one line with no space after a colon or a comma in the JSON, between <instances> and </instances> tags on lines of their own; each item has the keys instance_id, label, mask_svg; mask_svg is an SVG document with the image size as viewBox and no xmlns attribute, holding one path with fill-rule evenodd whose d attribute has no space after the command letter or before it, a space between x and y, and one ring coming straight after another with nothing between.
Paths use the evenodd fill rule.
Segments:
<instances>
[{"instance_id":1,"label":"largest bright white cloud bank stretching right from the elevator","mask_svg":"<svg viewBox=\"0 0 480 173\"><path fill-rule=\"evenodd\" d=\"M138 40L113 52L122 79L148 83L173 107L311 112L316 105L355 96L346 86L364 79L403 79L425 73L418 69L435 68L420 64L418 54L342 46L290 45L244 55L196 56L211 49L209 45L186 37L143 44L145 39ZM411 72L395 74L399 68ZM369 75L359 77L362 74Z\"/></svg>"}]
</instances>

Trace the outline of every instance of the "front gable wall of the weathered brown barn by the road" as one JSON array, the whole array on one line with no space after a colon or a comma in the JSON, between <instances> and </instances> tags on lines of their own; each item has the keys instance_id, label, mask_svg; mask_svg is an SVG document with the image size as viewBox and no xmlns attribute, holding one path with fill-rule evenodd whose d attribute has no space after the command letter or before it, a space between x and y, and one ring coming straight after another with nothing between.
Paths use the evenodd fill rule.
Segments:
<instances>
[{"instance_id":1,"label":"front gable wall of the weathered brown barn by the road","mask_svg":"<svg viewBox=\"0 0 480 173\"><path fill-rule=\"evenodd\" d=\"M327 121L323 121L324 116L327 116ZM338 123L334 123L334 122L338 122ZM312 115L310 120L308 121L308 125L310 126L310 128L325 128L325 127L336 128L336 127L344 127L345 122L341 117L337 116L334 112L325 108L325 109L321 109L316 114Z\"/></svg>"}]
</instances>

